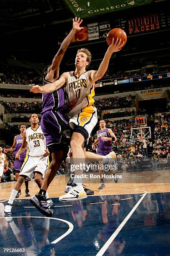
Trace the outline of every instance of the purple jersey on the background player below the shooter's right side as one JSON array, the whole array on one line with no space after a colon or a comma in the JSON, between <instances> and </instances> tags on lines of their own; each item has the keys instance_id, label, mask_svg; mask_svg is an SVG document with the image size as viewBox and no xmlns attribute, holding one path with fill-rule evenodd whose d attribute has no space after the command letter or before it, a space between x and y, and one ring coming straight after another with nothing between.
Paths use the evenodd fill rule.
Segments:
<instances>
[{"instance_id":1,"label":"purple jersey on the background player below the shooter's right side","mask_svg":"<svg viewBox=\"0 0 170 256\"><path fill-rule=\"evenodd\" d=\"M101 149L101 150L110 150L110 149L112 149L112 141L107 141L107 140L102 141L102 139L101 139L102 136L112 138L110 136L110 134L108 133L107 128L103 131L98 130L97 131L97 136L98 136L98 139L99 139L98 149Z\"/></svg>"}]
</instances>

